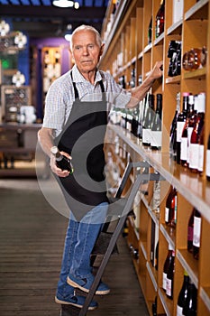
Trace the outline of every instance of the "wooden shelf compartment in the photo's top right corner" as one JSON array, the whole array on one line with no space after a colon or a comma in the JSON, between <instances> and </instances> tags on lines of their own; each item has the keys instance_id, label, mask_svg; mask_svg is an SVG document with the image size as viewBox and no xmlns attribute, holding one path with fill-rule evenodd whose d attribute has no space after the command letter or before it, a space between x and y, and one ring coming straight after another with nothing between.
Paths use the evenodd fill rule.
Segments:
<instances>
[{"instance_id":1,"label":"wooden shelf compartment in the photo's top right corner","mask_svg":"<svg viewBox=\"0 0 210 316\"><path fill-rule=\"evenodd\" d=\"M207 10L208 0L200 0L193 5L185 14L185 20L189 19L207 19L208 18L208 10Z\"/></svg>"}]
</instances>

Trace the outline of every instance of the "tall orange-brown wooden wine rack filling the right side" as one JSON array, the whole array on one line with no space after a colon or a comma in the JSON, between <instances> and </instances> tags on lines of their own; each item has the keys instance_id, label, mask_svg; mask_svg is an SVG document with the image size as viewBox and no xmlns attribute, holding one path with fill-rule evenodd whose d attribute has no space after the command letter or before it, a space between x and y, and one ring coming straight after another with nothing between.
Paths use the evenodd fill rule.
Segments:
<instances>
[{"instance_id":1,"label":"tall orange-brown wooden wine rack filling the right side","mask_svg":"<svg viewBox=\"0 0 210 316\"><path fill-rule=\"evenodd\" d=\"M145 79L157 60L163 60L163 77L156 80L151 91L155 96L162 94L163 116L161 151L152 151L144 147L139 138L118 125L110 125L107 132L105 152L112 153L113 161L120 166L121 175L126 159L119 157L114 150L114 139L126 151L133 161L149 163L150 170L159 172L165 181L160 182L160 210L151 209L153 181L147 186L148 194L142 195L135 213L138 220L128 219L128 245L138 248L138 258L133 258L133 264L142 286L142 292L152 315L152 305L157 297L157 314L177 315L178 293L180 292L184 271L187 271L197 289L197 315L210 315L210 182L206 181L205 168L202 175L186 170L169 157L169 130L176 110L176 96L180 92L192 92L194 95L205 92L205 117L210 116L210 4L209 0L184 0L183 13L177 17L173 9L175 1L165 1L164 33L155 38L155 16L160 8L160 1L134 0L121 1L118 5L110 33L107 35L106 15L102 36L105 33L105 53L101 58L100 67L109 70L116 81L125 82L125 88L135 86L139 79ZM113 2L107 13L111 13ZM181 11L180 11L181 12ZM179 12L179 14L180 14ZM152 19L151 42L148 41L148 30ZM181 42L181 57L192 48L203 48L207 51L206 63L193 71L181 67L180 74L169 77L169 43ZM133 74L135 78L133 79ZM205 119L205 153L207 149L210 124ZM108 144L109 143L109 144ZM132 174L130 181L135 179ZM173 185L178 191L178 209L176 228L165 224L165 205L169 187ZM129 189L129 186L127 190ZM201 212L201 246L199 259L196 260L187 251L187 223L192 209L196 207ZM158 270L151 264L151 221L159 228ZM176 251L173 300L169 300L162 290L162 270L168 253L169 244Z\"/></svg>"}]
</instances>

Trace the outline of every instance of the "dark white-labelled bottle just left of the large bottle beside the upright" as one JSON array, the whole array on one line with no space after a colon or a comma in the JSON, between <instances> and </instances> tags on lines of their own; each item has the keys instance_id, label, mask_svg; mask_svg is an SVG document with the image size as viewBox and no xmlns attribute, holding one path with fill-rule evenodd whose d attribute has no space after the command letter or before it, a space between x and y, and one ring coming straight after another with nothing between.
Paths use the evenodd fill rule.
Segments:
<instances>
[{"instance_id":1,"label":"dark white-labelled bottle just left of the large bottle beside the upright","mask_svg":"<svg viewBox=\"0 0 210 316\"><path fill-rule=\"evenodd\" d=\"M145 146L151 145L151 122L154 116L154 95L150 94L148 98L148 108L145 120L142 126L142 144Z\"/></svg>"}]
</instances>

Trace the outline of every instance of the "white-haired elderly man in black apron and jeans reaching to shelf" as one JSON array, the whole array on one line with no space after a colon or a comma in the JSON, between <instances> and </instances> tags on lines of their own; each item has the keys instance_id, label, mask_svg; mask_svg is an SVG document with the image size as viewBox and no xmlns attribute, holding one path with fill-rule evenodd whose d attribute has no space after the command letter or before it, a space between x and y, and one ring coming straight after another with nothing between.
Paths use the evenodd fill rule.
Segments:
<instances>
[{"instance_id":1,"label":"white-haired elderly man in black apron and jeans reaching to shelf","mask_svg":"<svg viewBox=\"0 0 210 316\"><path fill-rule=\"evenodd\" d=\"M156 63L142 86L126 91L109 73L97 68L104 44L95 28L79 26L72 34L70 49L75 65L50 86L39 141L70 209L55 301L81 308L85 297L75 295L74 290L88 293L94 281L90 255L108 208L103 151L107 103L136 107L154 80L161 77L162 62ZM50 152L54 145L72 157L73 174L57 166ZM103 282L96 290L100 295L109 292ZM96 306L92 301L89 310Z\"/></svg>"}]
</instances>

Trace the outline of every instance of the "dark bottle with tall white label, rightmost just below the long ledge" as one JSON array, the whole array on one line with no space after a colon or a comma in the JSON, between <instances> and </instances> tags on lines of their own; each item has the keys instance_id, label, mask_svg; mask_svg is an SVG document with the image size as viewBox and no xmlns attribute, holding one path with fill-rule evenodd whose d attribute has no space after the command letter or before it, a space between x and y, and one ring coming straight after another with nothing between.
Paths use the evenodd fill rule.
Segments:
<instances>
[{"instance_id":1,"label":"dark bottle with tall white label, rightmost just below the long ledge","mask_svg":"<svg viewBox=\"0 0 210 316\"><path fill-rule=\"evenodd\" d=\"M201 234L201 214L198 209L194 213L194 229L193 229L193 256L196 260L199 258L200 234Z\"/></svg>"}]
</instances>

